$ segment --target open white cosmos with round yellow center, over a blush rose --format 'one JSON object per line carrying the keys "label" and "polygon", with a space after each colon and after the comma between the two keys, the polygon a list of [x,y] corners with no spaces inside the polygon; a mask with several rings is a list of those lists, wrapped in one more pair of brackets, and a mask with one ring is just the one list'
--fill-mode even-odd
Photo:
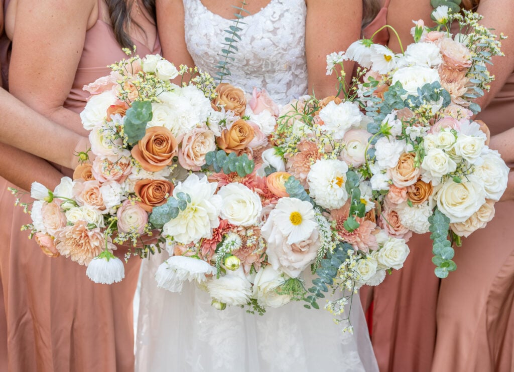
{"label": "open white cosmos with round yellow center, over a blush rose", "polygon": [[[268,222],[269,221],[269,222]],[[304,241],[316,228],[313,205],[296,198],[281,198],[270,212],[268,221],[287,237],[287,244]]]}

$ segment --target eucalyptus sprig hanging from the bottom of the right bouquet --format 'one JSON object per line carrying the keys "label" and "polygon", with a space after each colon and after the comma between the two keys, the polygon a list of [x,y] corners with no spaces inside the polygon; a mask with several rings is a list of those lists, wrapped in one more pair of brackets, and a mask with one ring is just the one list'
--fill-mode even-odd
{"label": "eucalyptus sprig hanging from the bottom of the right bouquet", "polygon": [[435,275],[437,278],[446,278],[450,271],[455,271],[457,265],[452,261],[455,254],[448,240],[448,230],[450,228],[450,219],[443,212],[435,208],[434,214],[428,218],[430,222],[430,239],[432,239],[432,253],[434,257],[432,262],[435,266]]}

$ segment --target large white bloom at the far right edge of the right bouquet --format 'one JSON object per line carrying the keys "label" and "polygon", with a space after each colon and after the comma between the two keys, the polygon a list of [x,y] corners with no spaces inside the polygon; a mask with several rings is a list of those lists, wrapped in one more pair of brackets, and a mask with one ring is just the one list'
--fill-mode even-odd
{"label": "large white bloom at the far right edge of the right bouquet", "polygon": [[483,163],[475,168],[473,174],[484,182],[486,199],[498,201],[507,188],[510,169],[496,150],[486,148],[482,159]]}

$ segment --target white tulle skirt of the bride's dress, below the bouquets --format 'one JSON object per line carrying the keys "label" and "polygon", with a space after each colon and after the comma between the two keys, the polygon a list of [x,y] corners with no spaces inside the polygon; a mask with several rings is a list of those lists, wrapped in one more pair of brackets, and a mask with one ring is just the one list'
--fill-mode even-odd
{"label": "white tulle skirt of the bride's dress, below the bouquets", "polygon": [[182,293],[157,288],[154,275],[164,259],[145,260],[141,269],[136,372],[378,371],[359,296],[353,335],[328,311],[302,302],[263,316],[240,307],[219,311],[194,284],[185,283]]}

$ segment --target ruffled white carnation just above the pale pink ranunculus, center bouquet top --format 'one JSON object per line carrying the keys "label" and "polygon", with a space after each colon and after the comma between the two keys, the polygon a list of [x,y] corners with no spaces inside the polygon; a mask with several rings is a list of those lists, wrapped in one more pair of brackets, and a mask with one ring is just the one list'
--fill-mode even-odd
{"label": "ruffled white carnation just above the pale pink ranunculus, center bouquet top", "polygon": [[332,134],[335,140],[341,140],[348,129],[360,125],[364,115],[353,102],[342,102],[337,105],[331,101],[320,110],[319,116],[325,123],[321,130]]}

